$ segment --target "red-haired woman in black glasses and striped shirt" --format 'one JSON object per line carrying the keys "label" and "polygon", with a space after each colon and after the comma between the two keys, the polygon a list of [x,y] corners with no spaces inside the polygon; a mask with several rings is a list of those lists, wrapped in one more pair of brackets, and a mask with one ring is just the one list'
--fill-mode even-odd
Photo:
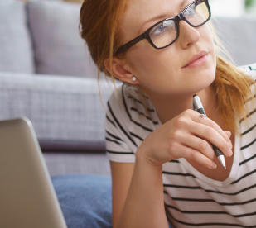
{"label": "red-haired woman in black glasses and striped shirt", "polygon": [[[255,77],[216,54],[209,19],[207,0],[81,7],[95,64],[123,81],[104,123],[114,228],[256,226]],[[208,117],[192,110],[195,93]]]}

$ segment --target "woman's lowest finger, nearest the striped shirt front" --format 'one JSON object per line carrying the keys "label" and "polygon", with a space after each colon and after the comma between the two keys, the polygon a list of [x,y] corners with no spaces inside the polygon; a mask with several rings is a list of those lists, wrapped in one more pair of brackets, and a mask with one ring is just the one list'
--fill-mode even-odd
{"label": "woman's lowest finger, nearest the striped shirt front", "polygon": [[217,165],[209,158],[207,158],[204,154],[201,154],[199,151],[194,150],[185,145],[180,145],[178,151],[181,151],[180,158],[191,159],[196,161],[196,163],[205,166],[208,169],[215,169]]}

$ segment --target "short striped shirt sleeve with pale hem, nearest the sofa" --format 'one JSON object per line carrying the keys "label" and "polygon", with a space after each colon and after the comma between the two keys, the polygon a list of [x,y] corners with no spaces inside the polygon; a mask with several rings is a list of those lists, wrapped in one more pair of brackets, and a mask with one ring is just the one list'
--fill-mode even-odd
{"label": "short striped shirt sleeve with pale hem, nearest the sofa", "polygon": [[109,160],[120,163],[134,163],[133,139],[129,135],[129,118],[123,112],[120,97],[112,93],[107,104],[104,119],[106,153]]}

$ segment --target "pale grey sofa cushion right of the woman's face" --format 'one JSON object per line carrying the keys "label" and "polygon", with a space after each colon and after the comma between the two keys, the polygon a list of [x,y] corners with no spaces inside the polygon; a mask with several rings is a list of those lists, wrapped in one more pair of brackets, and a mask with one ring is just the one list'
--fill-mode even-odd
{"label": "pale grey sofa cushion right of the woman's face", "polygon": [[256,17],[217,17],[215,28],[237,65],[256,62]]}

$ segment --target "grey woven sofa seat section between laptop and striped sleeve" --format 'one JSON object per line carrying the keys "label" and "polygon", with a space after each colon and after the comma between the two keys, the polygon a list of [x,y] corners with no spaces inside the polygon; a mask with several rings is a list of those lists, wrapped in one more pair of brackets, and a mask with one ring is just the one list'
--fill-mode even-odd
{"label": "grey woven sofa seat section between laptop and striped sleeve", "polygon": [[[101,82],[106,103],[112,88]],[[0,72],[0,119],[27,116],[42,150],[104,151],[104,107],[97,80]]]}

